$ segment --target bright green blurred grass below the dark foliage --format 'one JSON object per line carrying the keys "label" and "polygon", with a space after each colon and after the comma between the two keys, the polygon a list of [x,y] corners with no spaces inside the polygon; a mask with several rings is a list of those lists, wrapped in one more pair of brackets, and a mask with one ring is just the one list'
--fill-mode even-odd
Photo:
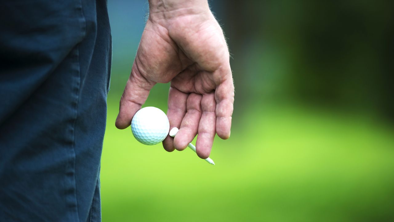
{"label": "bright green blurred grass below the dark foliage", "polygon": [[[189,149],[169,153],[117,130],[113,101],[103,221],[394,219],[394,137],[384,124],[291,105],[249,109],[234,117],[229,140],[216,138],[212,166]],[[166,110],[164,102],[155,106]]]}

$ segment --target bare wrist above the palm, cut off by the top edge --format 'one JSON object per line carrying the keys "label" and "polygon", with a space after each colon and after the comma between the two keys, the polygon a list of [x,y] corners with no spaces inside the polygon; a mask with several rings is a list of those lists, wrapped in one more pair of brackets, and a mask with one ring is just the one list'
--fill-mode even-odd
{"label": "bare wrist above the palm, cut off by the top edge", "polygon": [[170,20],[188,15],[211,14],[207,0],[149,0],[149,19]]}

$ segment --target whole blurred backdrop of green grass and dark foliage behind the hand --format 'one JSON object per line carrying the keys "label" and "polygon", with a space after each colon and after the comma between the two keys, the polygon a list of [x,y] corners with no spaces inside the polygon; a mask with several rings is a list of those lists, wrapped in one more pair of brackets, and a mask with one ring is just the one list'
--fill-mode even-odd
{"label": "whole blurred backdrop of green grass and dark foliage behind the hand", "polygon": [[[108,1],[111,90],[103,221],[393,221],[393,4],[210,1],[236,88],[207,164],[117,130],[147,1]],[[167,110],[169,84],[144,106]]]}

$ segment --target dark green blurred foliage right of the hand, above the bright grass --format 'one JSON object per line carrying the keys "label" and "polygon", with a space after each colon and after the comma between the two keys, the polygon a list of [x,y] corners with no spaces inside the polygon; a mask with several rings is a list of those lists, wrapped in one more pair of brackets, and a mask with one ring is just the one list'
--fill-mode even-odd
{"label": "dark green blurred foliage right of the hand, above the bright grass", "polygon": [[394,117],[393,6],[226,1],[221,22],[240,73],[237,95],[252,103],[250,94],[260,94]]}

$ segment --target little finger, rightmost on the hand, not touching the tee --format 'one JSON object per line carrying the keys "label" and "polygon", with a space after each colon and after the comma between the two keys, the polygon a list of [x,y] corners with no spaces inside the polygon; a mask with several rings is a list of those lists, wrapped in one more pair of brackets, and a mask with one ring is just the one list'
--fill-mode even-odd
{"label": "little finger, rightmost on the hand, not touching the tee", "polygon": [[222,139],[228,139],[231,131],[232,111],[234,109],[234,83],[231,71],[225,81],[215,90],[216,133]]}

